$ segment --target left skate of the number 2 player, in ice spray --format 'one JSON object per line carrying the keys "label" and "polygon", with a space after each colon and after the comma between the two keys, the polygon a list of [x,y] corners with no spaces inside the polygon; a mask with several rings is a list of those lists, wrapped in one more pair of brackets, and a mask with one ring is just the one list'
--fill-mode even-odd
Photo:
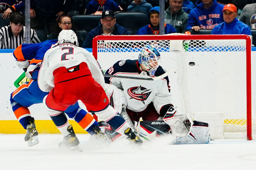
{"label": "left skate of the number 2 player, in ice spray", "polygon": [[82,148],[79,146],[80,142],[76,137],[76,134],[74,133],[72,125],[67,127],[67,131],[69,132],[69,134],[63,137],[63,141],[59,143],[59,147],[69,148],[71,150],[74,149],[80,152],[83,151]]}

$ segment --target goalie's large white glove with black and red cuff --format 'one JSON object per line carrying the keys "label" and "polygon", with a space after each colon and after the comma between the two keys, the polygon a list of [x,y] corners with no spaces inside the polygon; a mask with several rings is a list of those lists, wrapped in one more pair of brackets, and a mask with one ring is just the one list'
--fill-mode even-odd
{"label": "goalie's large white glove with black and red cuff", "polygon": [[189,115],[178,112],[171,104],[163,106],[160,114],[163,114],[164,110],[167,111],[163,117],[163,120],[171,127],[171,133],[176,137],[187,136],[190,133],[193,125]]}

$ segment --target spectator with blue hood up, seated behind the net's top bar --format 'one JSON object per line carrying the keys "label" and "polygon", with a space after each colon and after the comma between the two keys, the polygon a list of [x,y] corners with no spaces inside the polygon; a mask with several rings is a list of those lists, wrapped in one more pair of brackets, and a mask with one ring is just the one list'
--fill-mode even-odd
{"label": "spectator with blue hood up, seated behind the net's top bar", "polygon": [[[158,35],[159,34],[159,24],[160,24],[160,7],[153,7],[148,12],[148,17],[150,24],[140,28],[137,31],[137,35]],[[176,32],[176,29],[170,24],[164,24],[164,34],[170,34]]]}

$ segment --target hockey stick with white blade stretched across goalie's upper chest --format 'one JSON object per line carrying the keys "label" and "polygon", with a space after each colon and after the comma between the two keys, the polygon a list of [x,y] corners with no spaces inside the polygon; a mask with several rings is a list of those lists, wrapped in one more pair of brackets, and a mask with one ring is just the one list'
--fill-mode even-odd
{"label": "hockey stick with white blade stretched across goalie's upper chest", "polygon": [[143,77],[131,77],[131,76],[118,76],[118,75],[105,75],[104,71],[102,70],[102,67],[100,66],[100,63],[97,59],[95,59],[99,65],[100,71],[102,72],[104,77],[115,77],[115,78],[128,78],[128,79],[137,79],[137,80],[160,80],[166,76],[168,76],[171,73],[171,69],[166,71],[164,74],[160,75],[160,76],[154,76],[151,78],[143,78]]}

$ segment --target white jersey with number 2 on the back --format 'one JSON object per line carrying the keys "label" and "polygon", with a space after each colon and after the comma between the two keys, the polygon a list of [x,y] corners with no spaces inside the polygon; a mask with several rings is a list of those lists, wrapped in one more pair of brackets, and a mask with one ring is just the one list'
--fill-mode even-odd
{"label": "white jersey with number 2 on the back", "polygon": [[53,71],[56,68],[64,66],[69,69],[82,62],[88,65],[95,81],[104,87],[104,77],[93,55],[83,48],[70,43],[64,43],[49,49],[45,53],[38,75],[40,89],[44,92],[52,90],[54,87]]}

